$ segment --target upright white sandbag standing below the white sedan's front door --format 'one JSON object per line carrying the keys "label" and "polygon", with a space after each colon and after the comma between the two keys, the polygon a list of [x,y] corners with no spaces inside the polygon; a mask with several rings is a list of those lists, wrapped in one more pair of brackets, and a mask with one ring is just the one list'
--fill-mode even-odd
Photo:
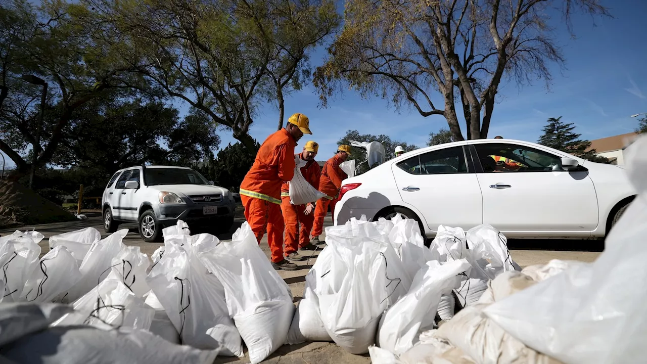
{"label": "upright white sandbag standing below the white sedan's front door", "polygon": [[494,279],[504,271],[521,271],[519,264],[512,260],[507,238],[492,225],[472,227],[467,231],[466,239],[472,259],[477,263],[472,265],[479,269],[482,275]]}

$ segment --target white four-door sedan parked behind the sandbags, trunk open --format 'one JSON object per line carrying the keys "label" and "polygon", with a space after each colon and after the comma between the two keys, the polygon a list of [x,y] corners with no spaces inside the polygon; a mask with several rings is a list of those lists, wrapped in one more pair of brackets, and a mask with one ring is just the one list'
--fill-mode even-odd
{"label": "white four-door sedan parked behind the sandbags, trunk open", "polygon": [[345,179],[334,223],[401,213],[428,237],[439,225],[489,223],[514,238],[602,238],[635,194],[622,166],[480,139],[413,150]]}

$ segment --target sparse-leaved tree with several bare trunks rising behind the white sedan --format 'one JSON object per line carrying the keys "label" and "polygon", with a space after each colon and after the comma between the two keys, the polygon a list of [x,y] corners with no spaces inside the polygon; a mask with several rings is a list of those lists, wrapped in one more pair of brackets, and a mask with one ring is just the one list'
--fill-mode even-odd
{"label": "sparse-leaved tree with several bare trunks rising behind the white sedan", "polygon": [[[486,138],[501,81],[551,82],[564,64],[554,39],[553,8],[604,16],[600,0],[347,0],[344,28],[314,75],[323,106],[344,81],[423,117],[442,115],[457,141]],[[444,105],[432,102],[439,93]],[[461,102],[457,111],[454,101]]]}

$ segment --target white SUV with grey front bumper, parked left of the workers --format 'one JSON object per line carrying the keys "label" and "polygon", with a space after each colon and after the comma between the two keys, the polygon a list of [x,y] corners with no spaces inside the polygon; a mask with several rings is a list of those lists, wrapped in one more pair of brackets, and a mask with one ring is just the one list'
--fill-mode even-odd
{"label": "white SUV with grey front bumper, parked left of the workers", "polygon": [[114,233],[121,222],[137,222],[145,242],[158,242],[162,229],[177,220],[228,231],[234,224],[235,202],[229,190],[191,168],[134,166],[110,179],[102,207],[107,233]]}

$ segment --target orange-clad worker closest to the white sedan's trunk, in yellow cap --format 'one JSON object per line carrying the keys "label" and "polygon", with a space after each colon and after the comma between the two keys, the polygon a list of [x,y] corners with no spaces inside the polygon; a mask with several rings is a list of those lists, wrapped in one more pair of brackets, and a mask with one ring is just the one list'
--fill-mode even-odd
{"label": "orange-clad worker closest to the white sedan's trunk, in yellow cap", "polygon": [[334,216],[334,205],[337,203],[339,189],[342,187],[342,181],[348,177],[339,165],[349,155],[351,155],[351,147],[342,144],[337,148],[336,154],[323,165],[322,176],[319,179],[319,191],[326,194],[326,196],[323,196],[317,201],[314,209],[313,239],[310,241],[311,244],[325,244],[319,240],[319,236],[323,233],[323,218],[328,213],[328,207],[330,207],[330,211]]}

